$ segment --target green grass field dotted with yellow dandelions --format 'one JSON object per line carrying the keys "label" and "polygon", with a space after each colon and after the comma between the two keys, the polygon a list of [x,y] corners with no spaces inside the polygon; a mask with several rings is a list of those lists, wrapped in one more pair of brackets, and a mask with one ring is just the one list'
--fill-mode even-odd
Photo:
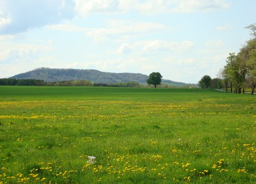
{"label": "green grass field dotted with yellow dandelions", "polygon": [[0,87],[0,183],[255,183],[255,104],[202,89]]}

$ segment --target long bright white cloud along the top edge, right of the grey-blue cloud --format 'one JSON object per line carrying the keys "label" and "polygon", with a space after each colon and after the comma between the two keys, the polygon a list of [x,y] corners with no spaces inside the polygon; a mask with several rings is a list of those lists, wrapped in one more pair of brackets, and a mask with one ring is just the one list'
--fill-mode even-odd
{"label": "long bright white cloud along the top edge, right of the grey-blue cloud", "polygon": [[191,13],[227,9],[225,0],[76,0],[76,10],[81,16],[89,13]]}

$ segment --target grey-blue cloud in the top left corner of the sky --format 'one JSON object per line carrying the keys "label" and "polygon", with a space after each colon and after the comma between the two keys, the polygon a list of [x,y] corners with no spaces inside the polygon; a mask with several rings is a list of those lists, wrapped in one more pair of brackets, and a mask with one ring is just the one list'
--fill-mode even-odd
{"label": "grey-blue cloud in the top left corner of the sky", "polygon": [[1,0],[0,34],[17,34],[74,17],[74,2]]}

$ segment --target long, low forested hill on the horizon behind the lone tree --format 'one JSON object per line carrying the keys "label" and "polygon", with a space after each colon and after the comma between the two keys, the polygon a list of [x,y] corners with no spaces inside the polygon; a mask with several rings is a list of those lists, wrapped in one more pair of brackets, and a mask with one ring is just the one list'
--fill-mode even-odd
{"label": "long, low forested hill on the horizon behind the lone tree", "polygon": [[[106,73],[96,69],[54,69],[38,68],[32,71],[10,77],[14,79],[39,79],[46,82],[63,80],[90,80],[94,83],[139,82],[146,83],[148,76],[135,73]],[[162,80],[169,85],[183,86],[186,83]]]}

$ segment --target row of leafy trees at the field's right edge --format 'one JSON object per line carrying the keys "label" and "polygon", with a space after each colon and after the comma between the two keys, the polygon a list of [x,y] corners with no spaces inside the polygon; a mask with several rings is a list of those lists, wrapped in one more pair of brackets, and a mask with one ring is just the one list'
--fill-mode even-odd
{"label": "row of leafy trees at the field's right edge", "polygon": [[[246,27],[252,31],[253,38],[246,42],[240,52],[229,54],[226,59],[226,65],[221,69],[219,78],[210,79],[210,76],[204,76],[198,85],[201,88],[225,88],[226,92],[244,93],[246,88],[251,88],[251,94],[254,94],[256,85],[256,24]],[[211,86],[210,83],[213,83]]]}

